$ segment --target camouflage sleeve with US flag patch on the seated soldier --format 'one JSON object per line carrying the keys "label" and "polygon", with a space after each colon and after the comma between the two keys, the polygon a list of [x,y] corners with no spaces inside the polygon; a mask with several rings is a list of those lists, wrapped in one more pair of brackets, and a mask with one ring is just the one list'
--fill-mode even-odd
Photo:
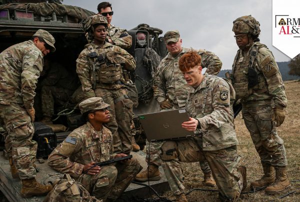
{"label": "camouflage sleeve with US flag patch on the seated soldier", "polygon": [[70,161],[69,157],[80,150],[82,140],[75,133],[70,133],[67,138],[48,156],[48,165],[58,172],[77,177],[82,173],[84,165]]}

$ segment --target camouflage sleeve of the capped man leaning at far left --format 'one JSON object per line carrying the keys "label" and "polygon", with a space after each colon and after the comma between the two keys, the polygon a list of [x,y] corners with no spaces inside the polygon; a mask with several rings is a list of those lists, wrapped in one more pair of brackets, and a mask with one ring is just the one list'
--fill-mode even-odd
{"label": "camouflage sleeve of the capped man leaning at far left", "polygon": [[35,96],[37,79],[42,71],[42,56],[40,51],[29,50],[22,60],[21,93],[24,107],[31,109]]}

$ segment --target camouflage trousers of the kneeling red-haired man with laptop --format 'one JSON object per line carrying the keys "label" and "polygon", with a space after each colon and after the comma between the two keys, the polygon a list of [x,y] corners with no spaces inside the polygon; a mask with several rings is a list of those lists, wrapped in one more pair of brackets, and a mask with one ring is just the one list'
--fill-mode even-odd
{"label": "camouflage trousers of the kneeling red-haired man with laptop", "polygon": [[237,172],[239,156],[236,146],[216,151],[203,151],[193,138],[166,141],[161,146],[162,168],[174,195],[184,193],[180,162],[197,162],[206,159],[219,194],[229,198],[239,197],[242,177]]}

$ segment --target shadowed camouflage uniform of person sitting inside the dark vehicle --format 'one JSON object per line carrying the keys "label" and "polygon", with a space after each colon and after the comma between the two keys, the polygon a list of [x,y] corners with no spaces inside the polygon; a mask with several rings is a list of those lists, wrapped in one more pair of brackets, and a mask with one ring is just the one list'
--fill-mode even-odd
{"label": "shadowed camouflage uniform of person sitting inside the dark vehicle", "polygon": [[46,77],[41,81],[41,111],[43,116],[52,117],[54,103],[63,106],[76,90],[77,78],[62,65],[52,63]]}

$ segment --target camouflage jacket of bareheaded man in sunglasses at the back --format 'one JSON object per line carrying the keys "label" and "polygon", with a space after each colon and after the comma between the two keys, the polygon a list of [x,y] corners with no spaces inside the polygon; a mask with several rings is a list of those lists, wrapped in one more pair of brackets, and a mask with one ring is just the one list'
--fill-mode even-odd
{"label": "camouflage jacket of bareheaded man in sunglasses at the back", "polygon": [[128,49],[132,44],[132,37],[128,35],[126,30],[111,24],[107,29],[107,38],[112,40],[113,45],[121,47],[122,49]]}

